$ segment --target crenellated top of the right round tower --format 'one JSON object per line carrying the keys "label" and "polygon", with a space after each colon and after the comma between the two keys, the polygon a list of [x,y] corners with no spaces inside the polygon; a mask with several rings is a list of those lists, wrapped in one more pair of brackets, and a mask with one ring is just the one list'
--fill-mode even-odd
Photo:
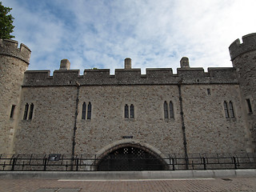
{"label": "crenellated top of the right round tower", "polygon": [[247,34],[242,37],[242,43],[239,39],[235,40],[229,47],[231,61],[251,50],[256,50],[256,33]]}

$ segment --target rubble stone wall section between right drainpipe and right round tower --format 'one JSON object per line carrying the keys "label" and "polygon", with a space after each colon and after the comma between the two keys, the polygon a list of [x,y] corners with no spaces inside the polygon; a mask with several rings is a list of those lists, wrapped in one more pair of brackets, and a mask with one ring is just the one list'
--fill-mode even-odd
{"label": "rubble stone wall section between right drainpipe and right round tower", "polygon": [[[182,101],[188,153],[239,153],[252,148],[246,143],[238,85],[182,86]],[[225,117],[224,101],[233,103],[234,118]]]}

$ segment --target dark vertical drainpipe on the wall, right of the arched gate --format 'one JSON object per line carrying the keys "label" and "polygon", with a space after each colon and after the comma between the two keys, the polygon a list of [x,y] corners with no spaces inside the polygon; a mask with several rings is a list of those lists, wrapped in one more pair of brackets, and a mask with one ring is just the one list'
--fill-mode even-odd
{"label": "dark vertical drainpipe on the wall, right of the arched gate", "polygon": [[184,122],[184,113],[183,113],[183,104],[182,104],[182,80],[178,82],[178,95],[179,95],[179,104],[180,104],[181,117],[182,117],[182,134],[183,134],[183,146],[184,146],[184,152],[185,152],[186,170],[188,170],[189,158],[187,155],[187,148],[186,148],[186,127]]}

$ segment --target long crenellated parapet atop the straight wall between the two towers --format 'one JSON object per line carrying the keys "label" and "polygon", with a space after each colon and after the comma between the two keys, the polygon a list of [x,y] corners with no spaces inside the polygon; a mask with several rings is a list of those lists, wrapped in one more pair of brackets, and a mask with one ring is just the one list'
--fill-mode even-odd
{"label": "long crenellated parapet atop the straight wall between the two towers", "polygon": [[233,67],[208,68],[178,68],[178,73],[173,74],[170,68],[146,69],[146,74],[141,74],[140,69],[118,69],[115,74],[110,70],[84,70],[80,75],[79,70],[27,70],[22,86],[107,86],[107,85],[168,85],[178,84],[237,84],[236,71]]}

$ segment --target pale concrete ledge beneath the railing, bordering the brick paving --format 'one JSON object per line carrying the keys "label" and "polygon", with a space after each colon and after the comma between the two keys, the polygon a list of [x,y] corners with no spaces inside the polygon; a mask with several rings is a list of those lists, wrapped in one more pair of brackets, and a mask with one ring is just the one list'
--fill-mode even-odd
{"label": "pale concrete ledge beneath the railing, bordering the brick paving", "polygon": [[166,171],[0,171],[0,178],[82,178],[86,180],[166,178],[256,178],[251,170],[166,170]]}

